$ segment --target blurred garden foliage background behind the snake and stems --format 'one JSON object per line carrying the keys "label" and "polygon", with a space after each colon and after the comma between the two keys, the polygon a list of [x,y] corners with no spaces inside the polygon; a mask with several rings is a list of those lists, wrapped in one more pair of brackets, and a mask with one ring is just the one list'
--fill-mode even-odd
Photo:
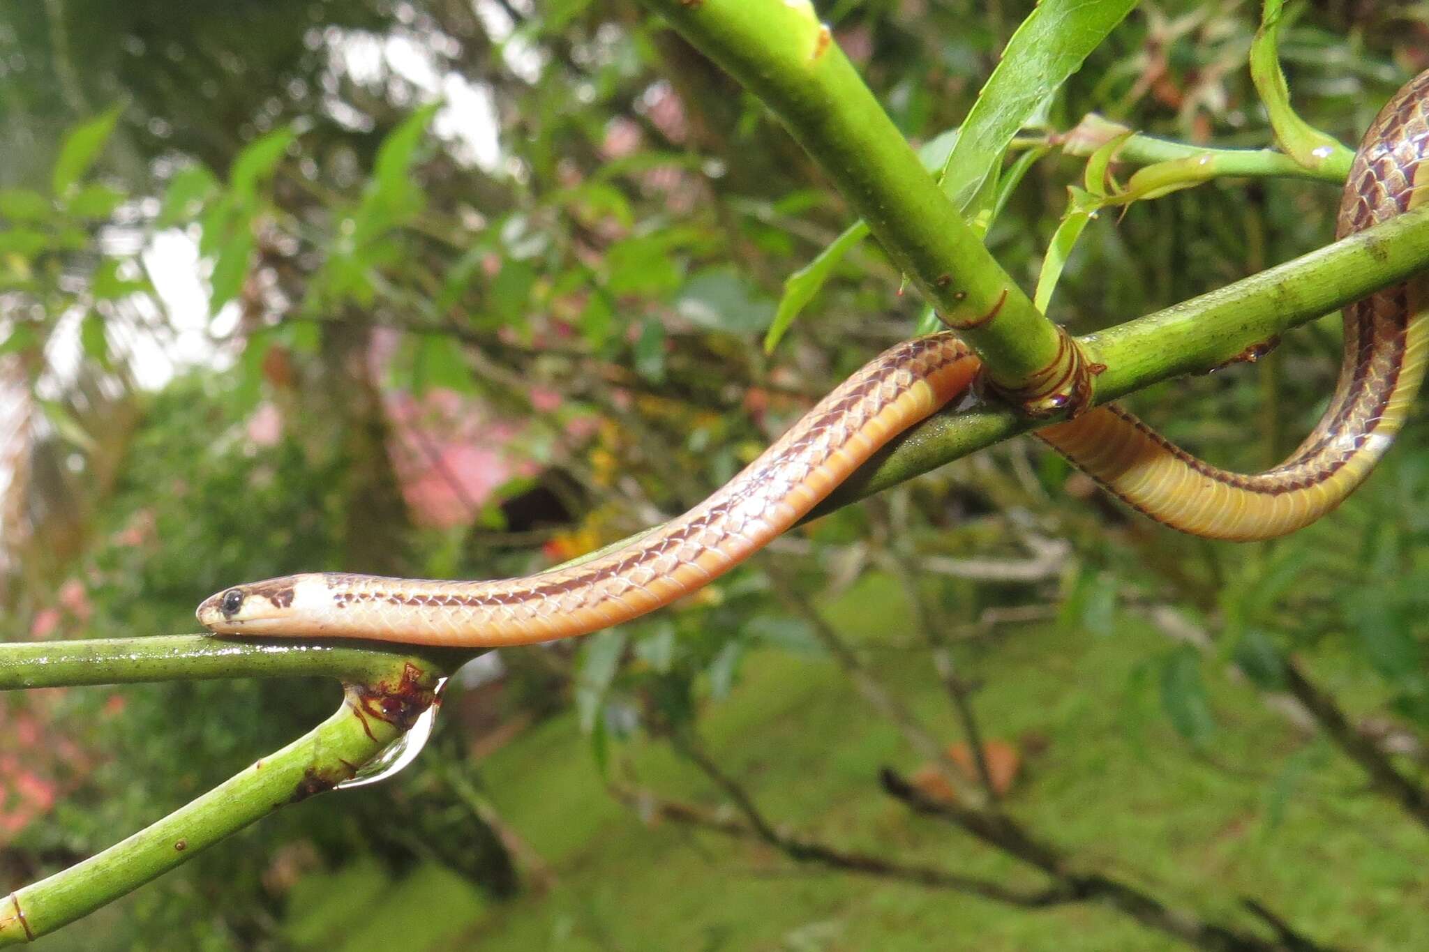
{"label": "blurred garden foliage background behind the snake and stems", "polygon": [[[916,143],[957,124],[1030,10],[817,7]],[[1097,111],[1269,144],[1258,19],[1142,4],[1029,138]],[[1429,66],[1426,19],[1293,10],[1300,113],[1358,141]],[[4,639],[191,631],[207,594],[292,571],[539,571],[696,504],[917,313],[870,243],[765,355],[782,281],[850,216],[633,0],[10,4],[0,110]],[[1039,160],[987,236],[1029,288],[1083,163]],[[1252,274],[1329,241],[1336,200],[1233,180],[1103,214],[1052,314],[1086,333]],[[1325,405],[1338,334],[1329,315],[1132,404],[1269,465]],[[669,611],[477,662],[402,776],[283,811],[41,945],[336,948],[374,925],[432,949],[1187,941],[1106,896],[1019,908],[719,829],[765,816],[1046,882],[886,796],[883,766],[999,798],[1077,868],[1206,921],[1423,945],[1426,441],[1416,414],[1342,511],[1256,545],[1135,517],[1033,441],[996,447]],[[276,681],[0,698],[0,891],[336,702]],[[929,772],[930,744],[965,774]]]}

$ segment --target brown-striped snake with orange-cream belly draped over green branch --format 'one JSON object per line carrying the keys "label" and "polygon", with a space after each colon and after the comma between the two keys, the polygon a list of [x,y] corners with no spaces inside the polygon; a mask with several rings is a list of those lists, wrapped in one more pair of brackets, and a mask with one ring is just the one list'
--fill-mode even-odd
{"label": "brown-striped snake with orange-cream belly draped over green branch", "polygon": [[[1419,187],[1429,184],[1429,171],[1422,171],[1429,170],[1426,113],[1429,70],[1399,90],[1366,130],[1336,237],[1416,204]],[[1343,363],[1330,402],[1299,448],[1265,472],[1203,462],[1115,404],[1036,435],[1127,505],[1172,528],[1242,541],[1292,532],[1363,482],[1403,424],[1429,354],[1429,321],[1420,320],[1426,300],[1425,280],[1412,278],[1345,308]],[[617,625],[749,558],[895,435],[969,397],[980,370],[952,331],[903,341],[829,393],[693,510],[580,564],[492,581],[306,572],[220,591],[197,617],[224,635],[467,648]]]}

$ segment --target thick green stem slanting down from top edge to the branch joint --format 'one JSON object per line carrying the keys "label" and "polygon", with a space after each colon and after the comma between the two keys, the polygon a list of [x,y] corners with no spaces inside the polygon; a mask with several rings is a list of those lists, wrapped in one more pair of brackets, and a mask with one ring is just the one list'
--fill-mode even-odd
{"label": "thick green stem slanting down from top edge to the branch joint", "polygon": [[1053,324],[963,221],[807,0],[642,3],[785,123],[926,300],[966,325],[997,384],[1019,388],[1052,364]]}

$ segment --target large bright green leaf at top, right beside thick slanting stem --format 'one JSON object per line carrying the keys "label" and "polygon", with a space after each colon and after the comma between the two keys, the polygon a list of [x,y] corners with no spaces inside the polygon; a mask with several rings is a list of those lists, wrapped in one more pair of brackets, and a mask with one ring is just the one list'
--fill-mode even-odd
{"label": "large bright green leaf at top, right beside thick slanting stem", "polygon": [[1022,21],[943,166],[943,193],[965,218],[992,208],[995,194],[983,186],[995,178],[1007,143],[1135,6],[1136,0],[1042,0]]}

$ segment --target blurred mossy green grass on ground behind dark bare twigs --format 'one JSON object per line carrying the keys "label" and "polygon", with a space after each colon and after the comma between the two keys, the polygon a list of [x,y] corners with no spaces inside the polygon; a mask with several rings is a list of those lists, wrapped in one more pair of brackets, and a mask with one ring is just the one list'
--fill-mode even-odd
{"label": "blurred mossy green grass on ground behind dark bare twigs", "polygon": [[[890,579],[870,575],[829,607],[865,647],[906,631]],[[1429,838],[1365,789],[1322,742],[1295,732],[1249,687],[1212,678],[1218,732],[1193,749],[1157,712],[1145,659],[1172,645],[1123,617],[1096,637],[1010,629],[973,659],[989,736],[1035,732],[1012,811],[1089,868],[1169,905],[1255,928],[1253,896],[1310,938],[1356,949],[1429,948]],[[869,652],[885,682],[949,739],[926,658]],[[1335,668],[1318,675],[1329,687]],[[825,658],[752,654],[733,695],[702,719],[709,748],[776,822],[829,844],[939,864],[1025,886],[1037,875],[946,824],[883,796],[883,765],[916,758]],[[629,751],[642,782],[719,802],[667,748]],[[573,716],[547,721],[483,764],[504,815],[556,885],[494,903],[434,866],[389,881],[377,868],[310,875],[289,898],[302,948],[369,949],[987,949],[1183,948],[1100,905],[1027,912],[947,891],[797,868],[783,856],[669,824],[643,825],[604,791]],[[400,781],[397,781],[400,782]],[[340,799],[330,801],[340,808]],[[220,846],[223,848],[223,846]]]}

